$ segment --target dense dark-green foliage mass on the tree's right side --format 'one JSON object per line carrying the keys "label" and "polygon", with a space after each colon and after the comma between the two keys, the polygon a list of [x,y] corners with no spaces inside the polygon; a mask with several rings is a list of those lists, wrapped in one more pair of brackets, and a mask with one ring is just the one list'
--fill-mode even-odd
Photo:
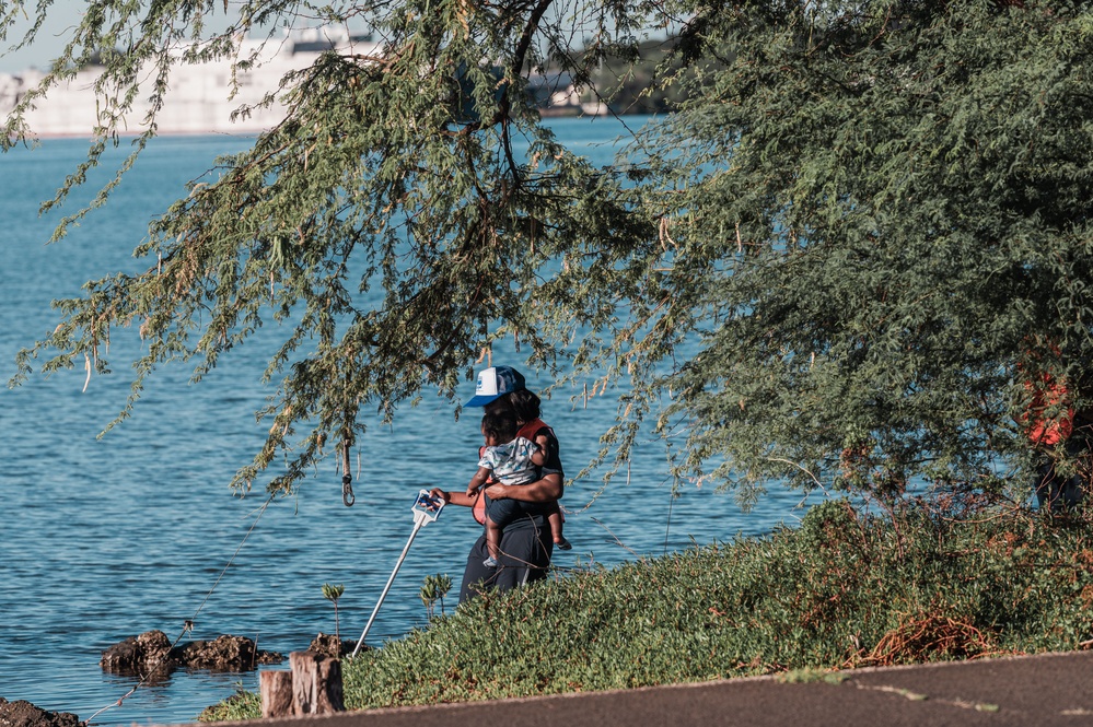
{"label": "dense dark-green foliage mass on the tree's right side", "polygon": [[696,4],[681,52],[735,55],[644,144],[671,249],[648,326],[705,342],[647,395],[690,427],[681,474],[999,492],[1032,356],[1088,407],[1091,17]]}

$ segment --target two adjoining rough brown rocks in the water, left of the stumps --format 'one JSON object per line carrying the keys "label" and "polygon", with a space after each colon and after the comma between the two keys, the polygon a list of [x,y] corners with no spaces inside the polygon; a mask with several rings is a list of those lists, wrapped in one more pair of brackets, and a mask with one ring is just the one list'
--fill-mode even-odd
{"label": "two adjoining rough brown rocks in the water, left of the stumps", "polygon": [[[276,652],[260,652],[246,636],[218,636],[171,646],[162,631],[148,631],[114,644],[98,665],[112,673],[142,675],[174,667],[211,671],[247,671],[259,664],[279,664],[284,658]],[[5,727],[0,725],[0,727]]]}

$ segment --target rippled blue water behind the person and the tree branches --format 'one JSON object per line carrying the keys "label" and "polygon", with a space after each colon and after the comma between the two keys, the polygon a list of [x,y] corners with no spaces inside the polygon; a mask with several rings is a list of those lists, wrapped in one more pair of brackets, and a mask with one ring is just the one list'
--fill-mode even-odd
{"label": "rippled blue water behind the person and the tree branches", "polygon": [[[584,145],[601,161],[613,153],[609,142],[625,132],[608,119],[555,126],[559,138]],[[223,136],[158,140],[105,208],[50,246],[45,242],[59,216],[39,219],[38,204],[83,157],[86,143],[47,140],[38,149],[0,156],[3,378],[14,371],[15,352],[56,325],[51,300],[78,295],[91,278],[139,269],[142,263],[131,250],[152,216],[184,195],[183,185],[209,168],[216,155],[248,143]],[[94,177],[105,178],[105,172]],[[75,209],[66,204],[65,212]],[[409,536],[417,489],[466,486],[480,438],[477,418],[456,422],[447,402],[427,397],[362,442],[354,507],[341,504],[340,472],[332,459],[298,495],[261,511],[263,493],[240,499],[226,485],[263,441],[264,429],[254,419],[269,394],[258,380],[263,347],[223,356],[195,386],[185,365],[163,368],[149,382],[135,415],[96,438],[125,403],[126,355],[139,347],[133,330],[114,331],[113,338],[115,374],[93,377],[85,392],[82,365],[0,392],[5,511],[0,517],[0,696],[88,719],[137,683],[104,673],[101,652],[151,629],[174,640],[187,619],[196,624],[187,638],[228,633],[257,638],[259,648],[286,655],[303,649],[319,631],[334,630],[324,583],[345,584],[342,636],[359,636]],[[528,374],[533,388],[548,383]],[[468,383],[465,398],[472,389]],[[593,456],[615,403],[607,396],[588,408],[583,401],[573,406],[569,394],[575,391],[556,394],[544,412],[559,433],[572,476]],[[443,446],[438,434],[444,435]],[[410,448],[423,455],[393,481],[385,455]],[[595,479],[568,489],[567,535],[574,549],[559,553],[558,564],[617,564],[694,542],[765,532],[801,514],[794,509],[800,494],[784,490],[772,490],[743,514],[730,496],[709,490],[688,489],[673,501],[666,481],[662,450],[648,444],[631,461],[628,481],[620,478],[598,499],[593,501],[600,490]],[[419,533],[370,644],[426,624],[418,596],[422,578],[446,573],[457,591],[476,535],[466,511],[457,508]],[[257,676],[175,671],[94,722],[189,722],[240,684],[256,689]]]}

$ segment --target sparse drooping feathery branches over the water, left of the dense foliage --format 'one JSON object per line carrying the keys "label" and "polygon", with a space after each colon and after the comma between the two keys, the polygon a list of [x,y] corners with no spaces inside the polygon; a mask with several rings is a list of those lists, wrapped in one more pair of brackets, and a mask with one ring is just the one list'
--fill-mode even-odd
{"label": "sparse drooping feathery branches over the water, left of the dense foliage", "polygon": [[[153,222],[137,249],[149,259],[142,272],[93,281],[85,297],[59,302],[63,323],[20,354],[13,383],[47,352],[47,374],[84,359],[105,373],[107,341],[131,326],[144,353],[120,420],[159,365],[195,362],[200,379],[259,327],[281,324],[282,345],[266,371],[281,377],[280,388],[259,412],[269,437],[233,484],[248,489],[282,453],[287,471],[268,489],[289,492],[324,456],[324,442],[351,442],[363,431],[362,409],[389,418],[427,386],[454,398],[498,337],[519,336],[533,365],[553,366],[580,326],[613,316],[614,301],[582,298],[581,309],[551,312],[535,291],[572,290],[588,267],[609,269],[625,256],[621,243],[648,232],[648,222],[630,214],[621,174],[557,144],[523,93],[532,67],[548,58],[574,62],[559,45],[568,34],[558,32],[573,16],[547,14],[550,4],[438,0],[324,10],[368,23],[384,39],[381,56],[328,52],[288,74],[272,92],[288,104],[284,120],[252,150],[220,160],[214,175]],[[106,60],[100,87],[116,106],[100,114],[89,165],[116,141],[138,69],[161,71],[156,93],[165,93],[167,67],[178,61],[173,48],[187,45],[184,30],[196,38],[217,8],[204,0],[88,3],[40,92],[68,78],[70,66],[85,66],[84,49],[127,49]],[[231,57],[244,32],[291,24],[305,9],[287,0],[245,3],[228,32],[191,39],[182,62]],[[623,2],[577,3],[573,11],[601,43],[648,14],[643,4]],[[461,89],[474,120],[457,103]],[[9,118],[5,143],[28,133],[27,107]],[[144,128],[138,149],[154,134],[154,118]],[[513,151],[518,142],[526,153]],[[563,266],[569,272],[559,272],[573,241],[586,237],[620,245],[588,259],[577,254]]]}

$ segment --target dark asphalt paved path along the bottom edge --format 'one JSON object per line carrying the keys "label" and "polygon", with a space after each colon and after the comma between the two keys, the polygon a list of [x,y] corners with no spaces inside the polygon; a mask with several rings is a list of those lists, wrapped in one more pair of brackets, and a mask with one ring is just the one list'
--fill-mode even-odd
{"label": "dark asphalt paved path along the bottom edge", "polygon": [[[1093,725],[1093,653],[270,719],[290,727],[714,727]],[[252,727],[255,723],[251,724]]]}

